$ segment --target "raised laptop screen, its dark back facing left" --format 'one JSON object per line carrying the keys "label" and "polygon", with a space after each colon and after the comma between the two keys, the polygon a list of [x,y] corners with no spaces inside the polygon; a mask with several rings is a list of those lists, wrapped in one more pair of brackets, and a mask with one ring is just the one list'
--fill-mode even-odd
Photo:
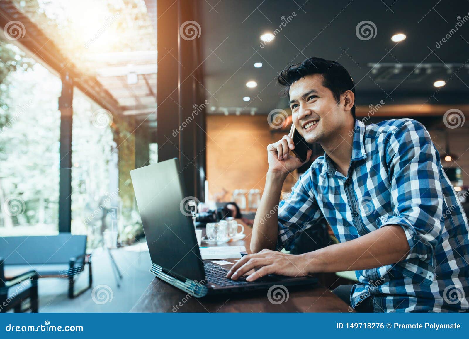
{"label": "raised laptop screen, its dark back facing left", "polygon": [[179,160],[137,168],[130,175],[151,261],[177,278],[204,279],[192,219],[180,208],[187,196]]}

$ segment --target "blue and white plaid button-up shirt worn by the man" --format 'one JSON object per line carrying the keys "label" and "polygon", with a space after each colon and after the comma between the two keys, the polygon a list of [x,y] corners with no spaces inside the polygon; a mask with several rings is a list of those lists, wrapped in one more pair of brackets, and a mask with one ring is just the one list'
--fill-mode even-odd
{"label": "blue and white plaid button-up shirt worn by the man", "polygon": [[323,216],[340,242],[399,225],[408,256],[356,271],[351,306],[372,297],[376,312],[468,310],[468,219],[428,131],[411,119],[357,120],[352,147],[347,177],[325,154],[280,202],[278,247],[291,250],[295,232]]}

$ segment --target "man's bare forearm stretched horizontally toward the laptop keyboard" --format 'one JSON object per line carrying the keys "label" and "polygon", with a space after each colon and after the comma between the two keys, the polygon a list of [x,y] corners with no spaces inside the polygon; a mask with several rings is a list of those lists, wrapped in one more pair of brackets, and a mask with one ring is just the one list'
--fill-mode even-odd
{"label": "man's bare forearm stretched horizontally toward the laptop keyboard", "polygon": [[309,273],[366,270],[402,261],[410,248],[401,226],[382,227],[360,238],[305,253]]}

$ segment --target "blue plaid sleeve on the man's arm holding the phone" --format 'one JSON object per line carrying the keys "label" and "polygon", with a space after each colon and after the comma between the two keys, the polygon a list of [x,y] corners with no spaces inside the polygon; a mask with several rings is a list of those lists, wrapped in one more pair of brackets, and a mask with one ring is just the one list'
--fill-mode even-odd
{"label": "blue plaid sleeve on the man's arm holding the phone", "polygon": [[293,241],[295,233],[309,227],[322,217],[318,203],[310,193],[310,185],[309,169],[300,176],[287,199],[280,201],[277,249],[292,250],[295,246]]}

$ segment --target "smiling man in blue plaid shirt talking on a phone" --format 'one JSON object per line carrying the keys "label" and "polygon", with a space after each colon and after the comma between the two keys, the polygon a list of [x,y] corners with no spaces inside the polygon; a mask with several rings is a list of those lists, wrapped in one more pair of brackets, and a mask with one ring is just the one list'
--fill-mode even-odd
{"label": "smiling man in blue plaid shirt talking on a phone", "polygon": [[[255,254],[227,277],[355,270],[359,283],[334,292],[358,311],[468,310],[468,220],[424,126],[411,119],[368,126],[356,120],[353,80],[337,62],[309,58],[283,70],[278,81],[296,130],[325,155],[272,213],[288,173],[303,163],[289,154],[295,148],[289,136],[267,147]],[[295,232],[323,216],[340,243],[302,255],[275,250],[291,250]]]}

